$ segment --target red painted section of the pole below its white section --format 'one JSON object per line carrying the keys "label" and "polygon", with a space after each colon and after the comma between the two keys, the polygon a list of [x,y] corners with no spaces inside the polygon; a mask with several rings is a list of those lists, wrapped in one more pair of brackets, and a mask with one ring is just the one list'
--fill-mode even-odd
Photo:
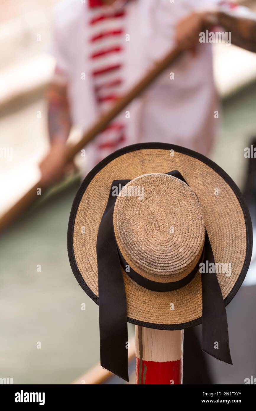
{"label": "red painted section of the pole below its white section", "polygon": [[140,359],[136,358],[136,384],[177,385],[181,383],[181,360],[164,363],[142,360],[141,371],[139,365]]}

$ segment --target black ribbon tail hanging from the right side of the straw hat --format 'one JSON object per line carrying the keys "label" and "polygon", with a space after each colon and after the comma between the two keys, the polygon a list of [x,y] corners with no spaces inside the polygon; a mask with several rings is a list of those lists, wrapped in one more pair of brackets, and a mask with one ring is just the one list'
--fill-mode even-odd
{"label": "black ribbon tail hanging from the right side of the straw hat", "polygon": [[205,231],[204,263],[212,264],[213,272],[202,273],[202,350],[224,363],[231,364],[228,342],[228,322],[225,303],[215,272],[215,262],[210,240]]}

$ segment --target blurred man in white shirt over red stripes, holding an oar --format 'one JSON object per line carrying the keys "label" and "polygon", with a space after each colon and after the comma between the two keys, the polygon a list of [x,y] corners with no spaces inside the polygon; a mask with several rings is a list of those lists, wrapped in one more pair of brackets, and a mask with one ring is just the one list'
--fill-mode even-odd
{"label": "blurred man in white shirt over red stripes, holding an oar", "polygon": [[51,48],[56,68],[48,90],[51,148],[40,165],[42,182],[62,175],[71,126],[88,129],[175,44],[189,53],[86,146],[83,175],[114,150],[137,142],[176,143],[208,155],[219,105],[211,44],[199,43],[199,32],[219,24],[232,32],[233,44],[255,51],[253,18],[244,7],[215,0],[57,5]]}

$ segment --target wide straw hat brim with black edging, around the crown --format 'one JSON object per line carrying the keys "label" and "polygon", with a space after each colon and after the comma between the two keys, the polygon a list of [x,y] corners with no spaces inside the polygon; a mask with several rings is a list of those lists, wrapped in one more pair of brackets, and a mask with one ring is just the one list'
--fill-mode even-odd
{"label": "wide straw hat brim with black edging, around the crown", "polygon": [[[71,269],[83,290],[97,304],[97,232],[112,181],[173,170],[180,171],[198,196],[215,262],[231,264],[231,274],[217,274],[225,305],[240,288],[251,260],[252,226],[247,204],[237,185],[217,164],[192,150],[166,143],[134,144],[115,151],[90,171],[71,208],[67,235]],[[185,287],[169,292],[147,290],[125,271],[123,277],[130,323],[178,330],[202,322],[199,272]]]}

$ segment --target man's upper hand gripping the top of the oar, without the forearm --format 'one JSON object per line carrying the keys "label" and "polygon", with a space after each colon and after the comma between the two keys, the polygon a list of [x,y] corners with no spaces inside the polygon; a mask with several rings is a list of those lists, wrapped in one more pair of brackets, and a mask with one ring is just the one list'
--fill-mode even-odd
{"label": "man's upper hand gripping the top of the oar, without the forearm", "polygon": [[179,21],[176,26],[176,45],[182,50],[196,52],[199,33],[205,30],[205,12],[194,12]]}

